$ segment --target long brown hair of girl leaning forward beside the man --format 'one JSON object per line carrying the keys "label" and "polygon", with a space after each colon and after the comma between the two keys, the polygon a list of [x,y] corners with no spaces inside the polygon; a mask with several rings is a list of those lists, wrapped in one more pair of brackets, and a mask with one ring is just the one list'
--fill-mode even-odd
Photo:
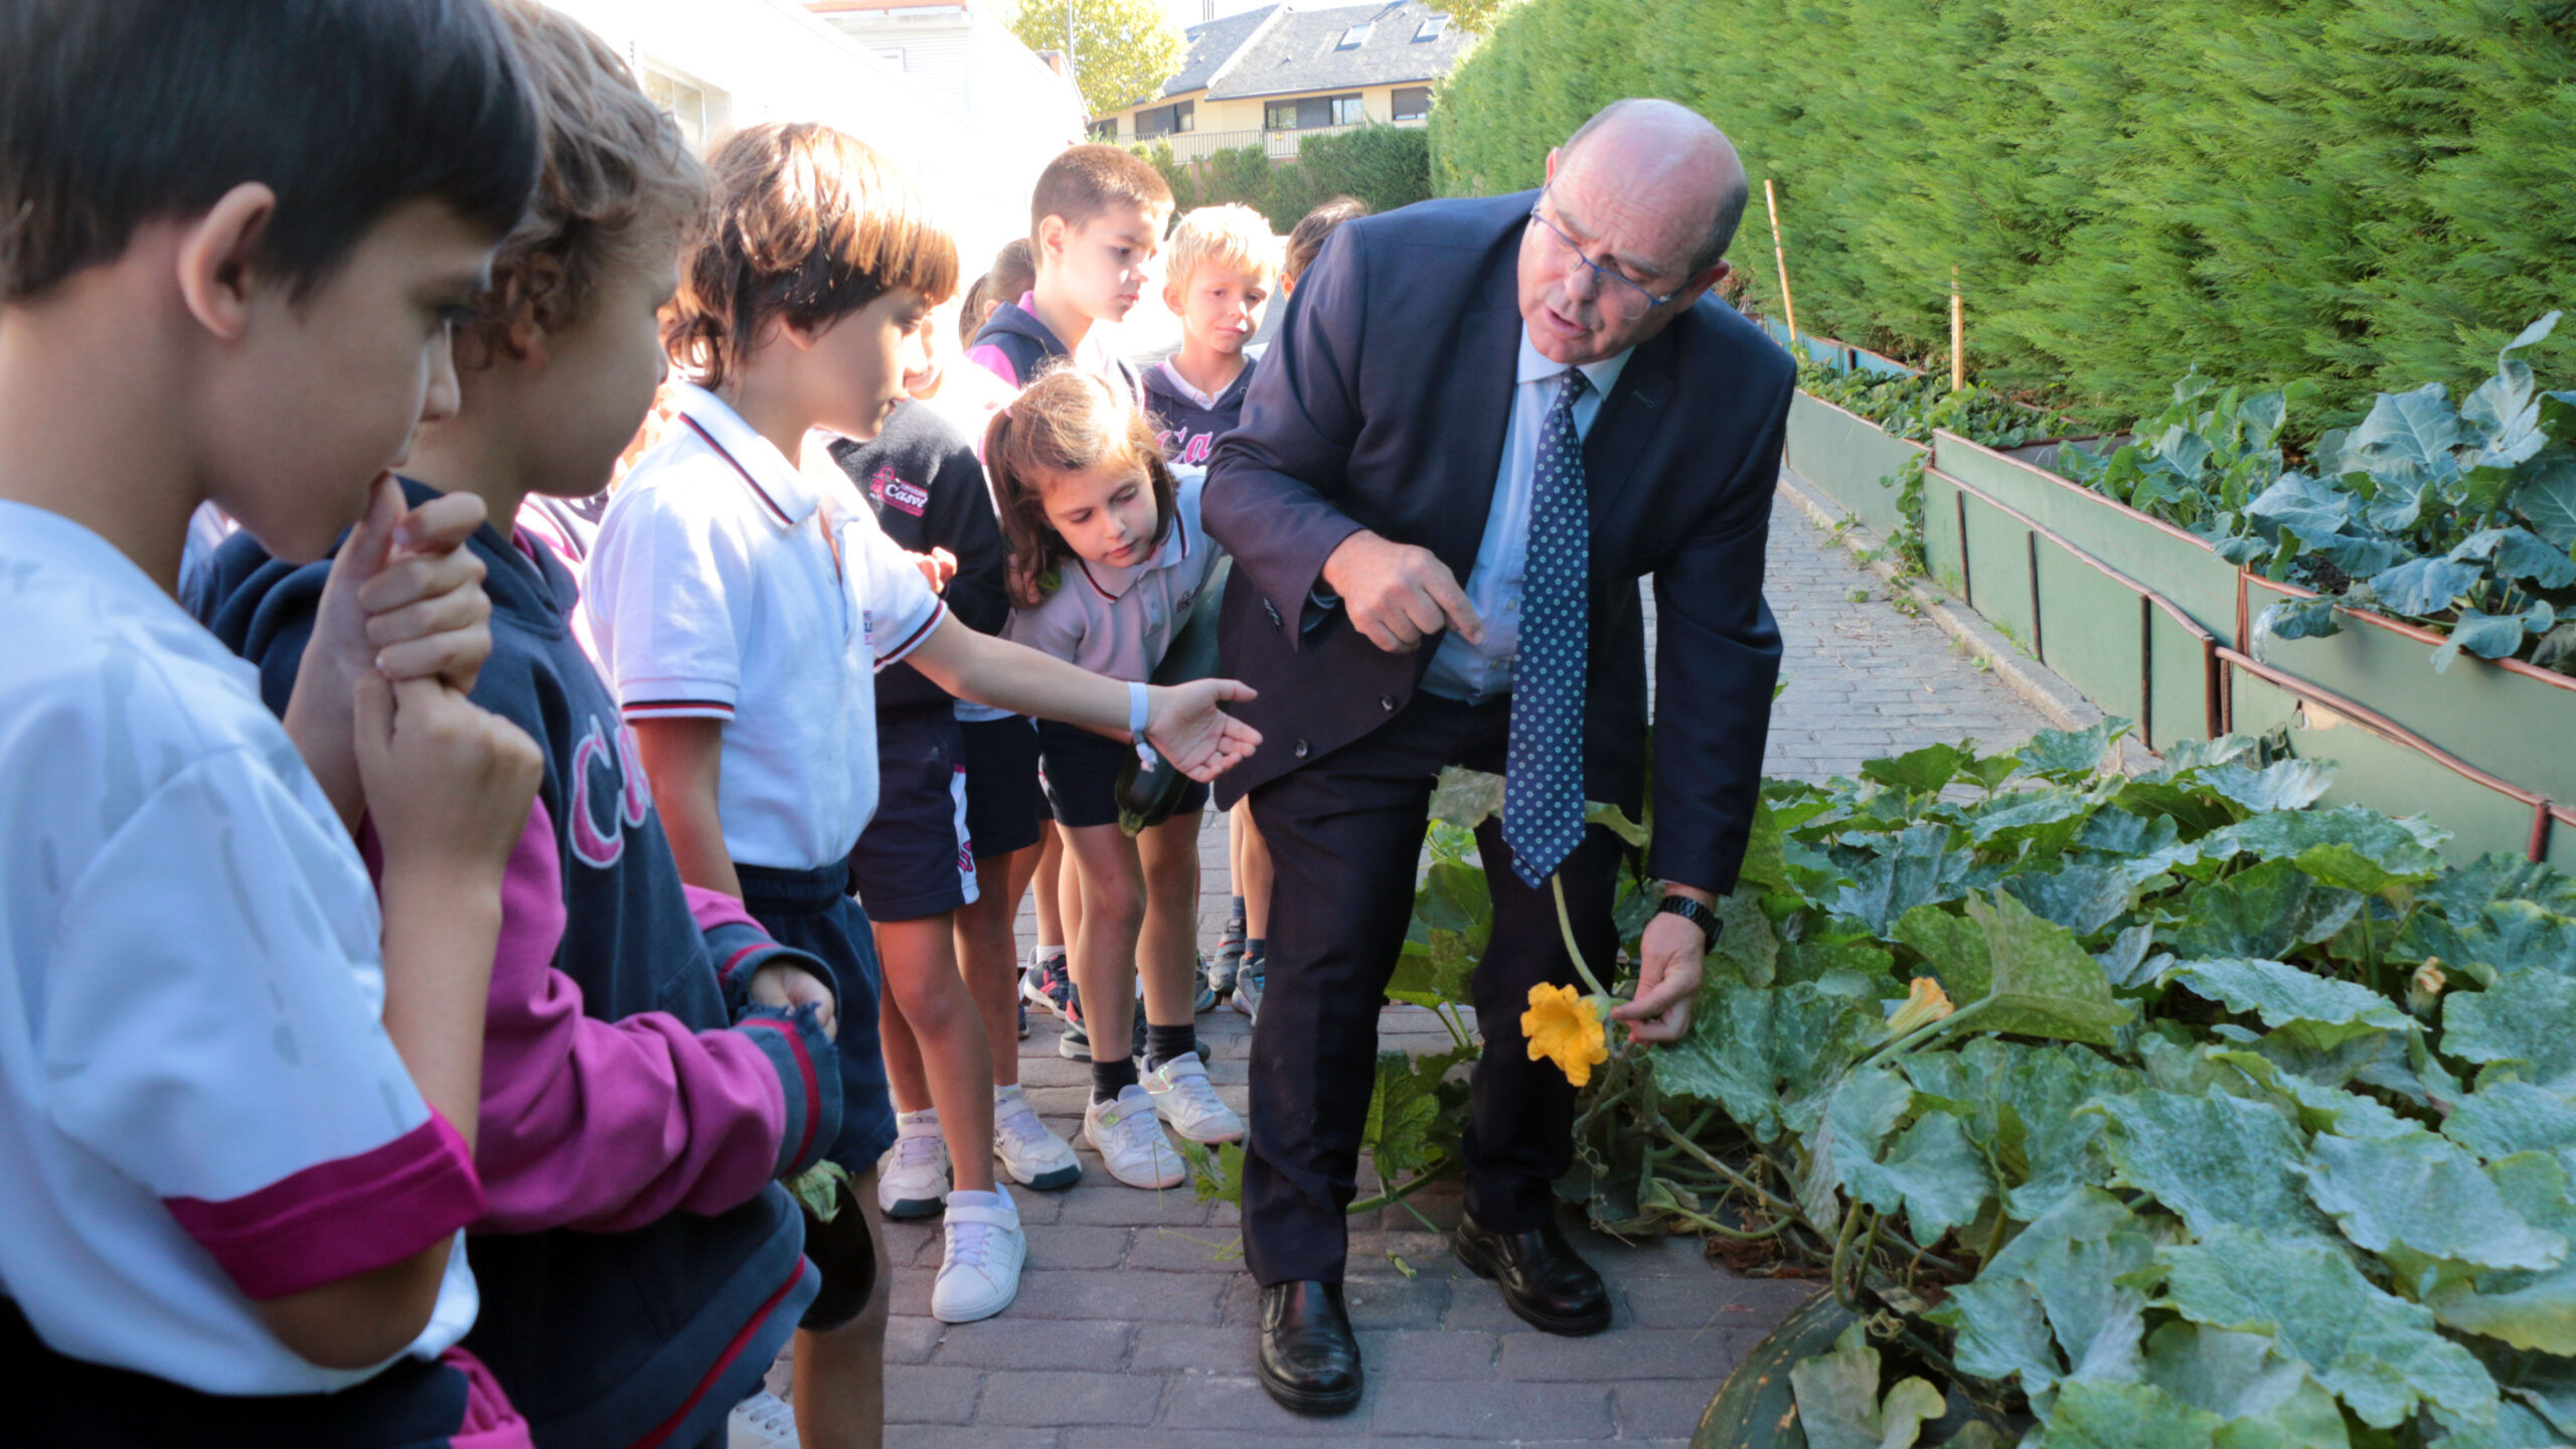
{"label": "long brown hair of girl leaning forward beside the man", "polygon": [[1154,541],[1172,526],[1172,467],[1154,423],[1115,387],[1069,364],[1038,374],[984,428],[984,469],[1010,547],[1010,601],[1036,608],[1074,549],[1046,521],[1046,480],[1092,467],[1133,467],[1154,485]]}

